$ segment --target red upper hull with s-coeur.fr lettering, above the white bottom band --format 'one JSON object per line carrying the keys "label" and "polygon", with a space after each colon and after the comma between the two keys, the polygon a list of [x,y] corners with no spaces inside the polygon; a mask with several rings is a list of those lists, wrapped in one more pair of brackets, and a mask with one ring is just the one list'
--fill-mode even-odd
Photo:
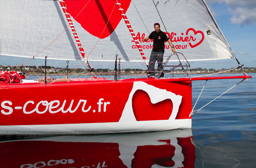
{"label": "red upper hull with s-coeur.fr lettering, above the white bottom band", "polygon": [[0,89],[1,126],[191,119],[190,81],[81,80]]}

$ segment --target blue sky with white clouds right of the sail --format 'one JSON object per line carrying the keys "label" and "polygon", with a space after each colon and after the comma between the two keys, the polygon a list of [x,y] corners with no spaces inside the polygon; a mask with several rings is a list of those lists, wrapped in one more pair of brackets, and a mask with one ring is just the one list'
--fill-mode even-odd
{"label": "blue sky with white clouds right of the sail", "polygon": [[[238,61],[244,67],[256,67],[256,0],[205,1]],[[227,65],[226,60],[216,62],[219,68]],[[192,67],[207,68],[210,64],[194,63]]]}

